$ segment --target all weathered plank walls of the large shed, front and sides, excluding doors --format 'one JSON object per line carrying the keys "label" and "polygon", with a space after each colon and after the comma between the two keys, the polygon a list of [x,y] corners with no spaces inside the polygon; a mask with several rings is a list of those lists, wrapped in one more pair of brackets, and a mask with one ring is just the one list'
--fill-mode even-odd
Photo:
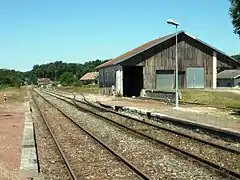
{"label": "all weathered plank walls of the large shed, front and sides, excluding doors", "polygon": [[[178,68],[181,78],[180,88],[186,88],[186,70],[188,67],[204,67],[205,87],[212,87],[213,78],[213,51],[204,45],[181,33],[178,36]],[[120,63],[121,66],[143,66],[144,89],[156,88],[156,70],[175,70],[175,37],[160,45],[154,46],[144,52]],[[217,53],[217,69],[237,68],[238,63],[226,55]],[[118,66],[102,68],[99,70],[100,87],[111,87],[116,84],[116,71]],[[239,67],[240,68],[240,67]]]}

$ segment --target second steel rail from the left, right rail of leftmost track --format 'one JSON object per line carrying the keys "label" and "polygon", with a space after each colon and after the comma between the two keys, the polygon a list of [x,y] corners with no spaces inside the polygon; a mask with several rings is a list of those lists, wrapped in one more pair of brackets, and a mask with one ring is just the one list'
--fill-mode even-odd
{"label": "second steel rail from the left, right rail of leftmost track", "polygon": [[66,113],[64,113],[61,109],[56,107],[54,104],[52,104],[46,97],[35,91],[40,97],[42,97],[48,104],[53,106],[55,109],[57,109],[64,117],[69,119],[74,125],[76,125],[78,128],[80,128],[82,131],[84,131],[86,134],[88,134],[93,140],[95,140],[97,143],[99,143],[103,148],[107,149],[111,154],[113,154],[117,159],[120,159],[131,171],[135,172],[141,179],[149,180],[150,177],[145,174],[143,171],[141,171],[137,166],[132,164],[130,161],[128,161],[126,158],[124,158],[122,155],[114,151],[111,147],[109,147],[104,141],[100,140],[97,136],[95,136],[90,131],[84,129],[82,126],[80,126],[78,123],[75,122],[74,119],[72,119],[70,116],[68,116]]}

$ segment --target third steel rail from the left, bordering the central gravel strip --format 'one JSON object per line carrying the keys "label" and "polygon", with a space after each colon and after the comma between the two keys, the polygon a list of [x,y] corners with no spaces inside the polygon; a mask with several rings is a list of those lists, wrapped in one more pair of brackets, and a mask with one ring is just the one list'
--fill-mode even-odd
{"label": "third steel rail from the left, bordering the central gravel strip", "polygon": [[[46,93],[47,93],[47,92],[46,92]],[[47,94],[51,95],[50,93],[47,93]],[[161,140],[155,139],[155,138],[153,138],[153,137],[151,137],[151,136],[149,136],[149,135],[146,135],[146,134],[144,134],[144,133],[141,133],[141,132],[139,132],[139,131],[137,131],[137,130],[134,130],[134,129],[131,129],[131,128],[127,127],[127,126],[124,126],[124,125],[122,125],[122,124],[120,124],[120,123],[118,123],[118,122],[115,122],[115,121],[112,120],[112,119],[109,119],[109,118],[107,118],[107,117],[105,117],[105,116],[102,116],[102,115],[100,115],[100,114],[98,114],[98,113],[95,113],[95,112],[93,112],[93,111],[91,111],[91,110],[89,110],[89,109],[86,109],[86,108],[83,108],[83,107],[79,106],[75,101],[73,101],[73,103],[72,103],[72,102],[69,102],[69,101],[67,101],[66,99],[63,99],[63,98],[58,97],[58,96],[56,96],[56,95],[52,95],[52,96],[54,96],[54,97],[56,97],[56,98],[58,98],[58,99],[60,99],[60,100],[62,100],[62,101],[64,101],[64,102],[66,102],[66,103],[68,103],[68,104],[70,104],[70,105],[78,108],[78,109],[81,110],[81,111],[89,112],[90,114],[94,115],[95,117],[101,118],[101,119],[103,119],[103,120],[107,120],[108,122],[110,122],[110,123],[113,124],[113,125],[122,127],[122,128],[124,128],[124,129],[129,130],[129,131],[132,131],[132,132],[134,132],[134,133],[136,133],[136,134],[139,134],[139,135],[141,135],[141,136],[143,136],[143,137],[145,137],[145,138],[147,138],[147,139],[152,140],[152,141],[155,142],[155,143],[162,144],[162,145],[166,146],[166,147],[169,148],[169,149],[172,149],[172,150],[174,150],[174,151],[176,151],[176,152],[178,152],[178,153],[181,153],[181,154],[183,154],[183,155],[185,155],[185,156],[187,156],[187,157],[191,157],[192,159],[194,159],[194,160],[196,160],[196,161],[198,161],[198,162],[200,162],[200,163],[202,163],[202,164],[204,164],[204,165],[208,165],[209,167],[212,167],[212,168],[216,169],[217,171],[219,171],[220,173],[225,174],[226,176],[231,176],[231,177],[238,178],[238,179],[240,178],[240,173],[239,173],[239,172],[236,172],[236,171],[234,171],[234,170],[225,168],[225,167],[220,166],[220,165],[218,165],[218,164],[216,164],[216,163],[214,163],[214,162],[211,162],[211,161],[209,161],[209,160],[207,160],[207,159],[204,159],[204,158],[202,158],[202,157],[199,157],[199,156],[197,156],[197,155],[194,155],[194,154],[192,154],[192,153],[189,153],[189,152],[187,152],[187,151],[185,151],[185,150],[182,150],[182,149],[180,149],[180,148],[177,148],[177,147],[175,147],[175,146],[173,146],[173,145],[171,145],[171,144],[168,144],[168,143],[163,142],[163,141],[161,141]]]}

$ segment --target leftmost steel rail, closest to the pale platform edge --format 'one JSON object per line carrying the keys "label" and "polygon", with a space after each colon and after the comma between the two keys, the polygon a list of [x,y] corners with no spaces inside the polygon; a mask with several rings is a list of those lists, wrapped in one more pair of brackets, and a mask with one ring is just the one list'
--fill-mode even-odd
{"label": "leftmost steel rail, closest to the pale platform edge", "polygon": [[63,152],[60,144],[58,143],[55,135],[53,134],[53,132],[52,132],[52,130],[51,130],[51,128],[50,128],[49,123],[47,122],[47,120],[46,120],[46,118],[44,117],[42,111],[40,110],[39,105],[37,104],[36,99],[35,99],[35,97],[33,96],[32,93],[31,93],[31,96],[32,96],[32,99],[33,99],[33,101],[34,101],[34,104],[35,104],[36,107],[37,107],[37,110],[40,112],[41,118],[44,120],[44,122],[45,122],[45,124],[46,124],[46,126],[47,126],[47,129],[48,129],[49,133],[51,134],[51,137],[52,137],[54,143],[56,144],[56,147],[57,147],[57,149],[58,149],[58,151],[59,151],[62,159],[64,160],[64,163],[66,164],[66,167],[67,167],[67,169],[68,169],[71,177],[72,177],[74,180],[77,180],[78,178],[77,178],[75,172],[73,171],[73,169],[72,169],[72,167],[71,167],[71,165],[70,165],[67,157],[65,156],[65,154],[64,154],[64,152]]}

